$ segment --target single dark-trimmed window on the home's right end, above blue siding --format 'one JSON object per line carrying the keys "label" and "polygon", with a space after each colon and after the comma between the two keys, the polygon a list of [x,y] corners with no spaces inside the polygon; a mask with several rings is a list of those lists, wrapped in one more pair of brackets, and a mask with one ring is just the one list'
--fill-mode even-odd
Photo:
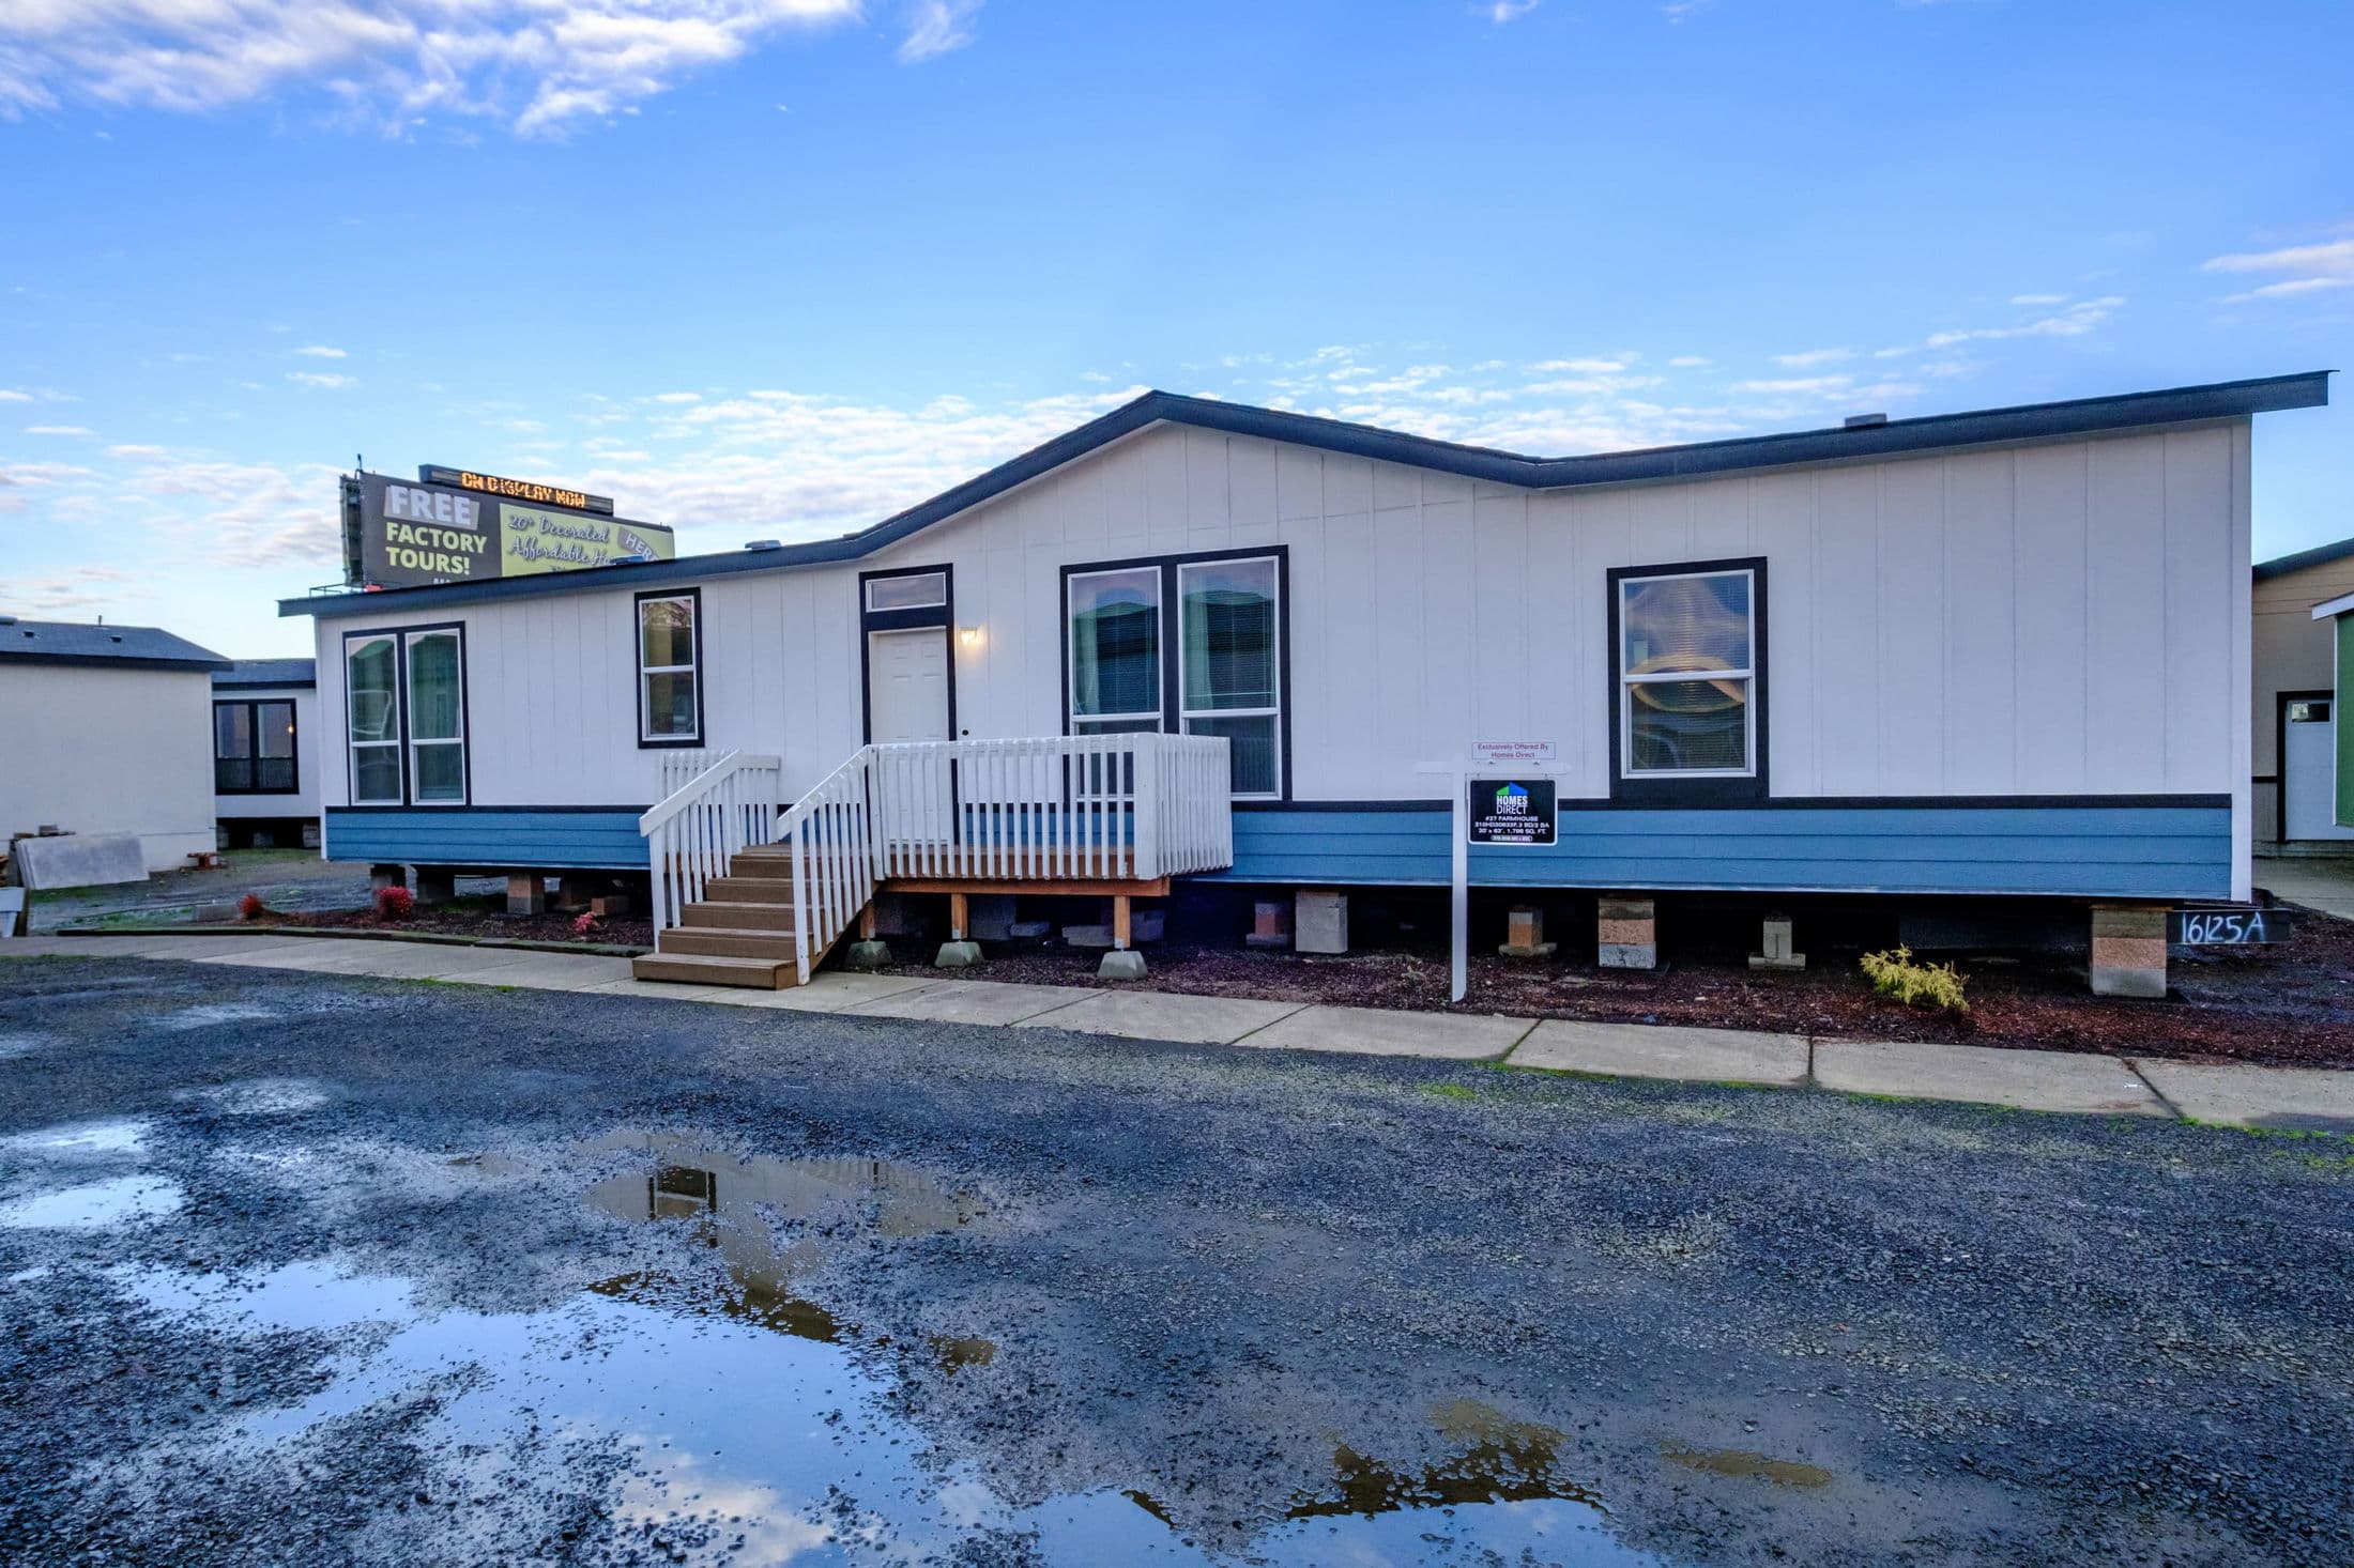
{"label": "single dark-trimmed window on the home's right end, above blue siding", "polygon": [[1756,779],[1763,563],[1612,572],[1617,777]]}

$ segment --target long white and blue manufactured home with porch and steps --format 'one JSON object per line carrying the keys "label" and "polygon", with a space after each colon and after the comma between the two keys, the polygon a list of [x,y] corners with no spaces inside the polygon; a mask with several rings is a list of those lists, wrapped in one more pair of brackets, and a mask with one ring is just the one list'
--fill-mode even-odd
{"label": "long white and blue manufactured home with porch and steps", "polygon": [[650,876],[643,975],[791,984],[878,892],[1462,866],[1636,963],[1676,899],[2039,899],[2147,991],[2248,897],[2250,421],[2326,398],[1523,457],[1146,393],[840,539],[280,612],[325,852]]}

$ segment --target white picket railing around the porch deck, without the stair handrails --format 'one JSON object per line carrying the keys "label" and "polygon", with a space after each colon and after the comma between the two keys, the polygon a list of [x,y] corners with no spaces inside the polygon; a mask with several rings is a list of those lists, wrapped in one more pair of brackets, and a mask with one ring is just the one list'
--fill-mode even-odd
{"label": "white picket railing around the porch deck, without the stair handrails", "polygon": [[871,746],[883,876],[1151,881],[1233,864],[1226,739]]}

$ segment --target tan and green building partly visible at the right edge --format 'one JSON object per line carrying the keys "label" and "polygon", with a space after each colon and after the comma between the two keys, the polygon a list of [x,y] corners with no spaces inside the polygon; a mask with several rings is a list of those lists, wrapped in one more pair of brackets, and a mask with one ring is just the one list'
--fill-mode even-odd
{"label": "tan and green building partly visible at the right edge", "polygon": [[2314,605],[2354,593],[2354,539],[2265,560],[2255,598],[2255,852],[2347,855],[2338,826],[2335,619]]}

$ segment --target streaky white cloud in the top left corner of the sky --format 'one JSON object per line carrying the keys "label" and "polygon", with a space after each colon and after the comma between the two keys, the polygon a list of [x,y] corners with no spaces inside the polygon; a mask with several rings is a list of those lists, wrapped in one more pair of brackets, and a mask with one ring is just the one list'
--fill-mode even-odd
{"label": "streaky white cloud in the top left corner of the sky", "polygon": [[[902,59],[970,38],[925,0]],[[518,132],[629,113],[859,0],[26,0],[0,7],[0,115],[64,101],[207,111],[306,89],[384,127],[487,115]]]}

